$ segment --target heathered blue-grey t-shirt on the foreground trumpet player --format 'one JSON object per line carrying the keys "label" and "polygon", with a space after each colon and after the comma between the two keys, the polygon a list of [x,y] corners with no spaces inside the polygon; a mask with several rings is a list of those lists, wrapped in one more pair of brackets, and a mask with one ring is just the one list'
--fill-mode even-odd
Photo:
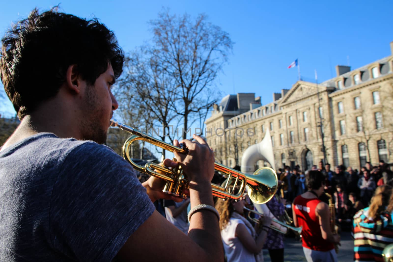
{"label": "heathered blue-grey t-shirt on the foreground trumpet player", "polygon": [[106,146],[40,133],[0,152],[0,261],[111,261],[153,211]]}

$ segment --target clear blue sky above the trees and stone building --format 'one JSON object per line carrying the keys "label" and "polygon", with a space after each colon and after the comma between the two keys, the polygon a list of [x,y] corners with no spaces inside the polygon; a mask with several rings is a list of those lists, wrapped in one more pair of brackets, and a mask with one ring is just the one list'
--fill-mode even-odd
{"label": "clear blue sky above the trees and stone building", "polygon": [[[57,4],[59,0],[5,1],[0,9],[0,35],[34,7],[46,10]],[[235,42],[217,88],[223,95],[255,93],[263,104],[272,101],[273,92],[289,89],[297,81],[296,68],[287,68],[296,58],[305,79],[312,80],[317,70],[318,81],[323,82],[335,77],[337,64],[349,63],[355,69],[387,57],[393,41],[391,0],[64,1],[60,6],[66,13],[99,18],[116,33],[126,52],[151,38],[147,22],[162,7],[193,17],[205,13]],[[8,99],[1,100],[0,114],[15,114]]]}

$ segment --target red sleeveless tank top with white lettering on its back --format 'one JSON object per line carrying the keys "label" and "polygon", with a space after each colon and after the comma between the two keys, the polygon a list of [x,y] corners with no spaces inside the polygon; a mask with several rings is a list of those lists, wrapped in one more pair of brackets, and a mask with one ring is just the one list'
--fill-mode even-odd
{"label": "red sleeveless tank top with white lettering on its back", "polygon": [[297,196],[293,202],[298,226],[301,231],[303,247],[317,251],[329,251],[334,249],[334,244],[322,238],[319,218],[315,215],[315,209],[321,200],[318,198],[303,198]]}

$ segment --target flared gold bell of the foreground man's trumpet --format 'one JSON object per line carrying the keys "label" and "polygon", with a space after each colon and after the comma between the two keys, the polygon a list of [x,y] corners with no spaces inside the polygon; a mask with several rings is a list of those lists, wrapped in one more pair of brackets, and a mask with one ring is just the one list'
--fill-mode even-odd
{"label": "flared gold bell of the foreground man's trumpet", "polygon": [[270,167],[262,167],[247,176],[248,196],[256,204],[268,202],[277,191],[277,174]]}

